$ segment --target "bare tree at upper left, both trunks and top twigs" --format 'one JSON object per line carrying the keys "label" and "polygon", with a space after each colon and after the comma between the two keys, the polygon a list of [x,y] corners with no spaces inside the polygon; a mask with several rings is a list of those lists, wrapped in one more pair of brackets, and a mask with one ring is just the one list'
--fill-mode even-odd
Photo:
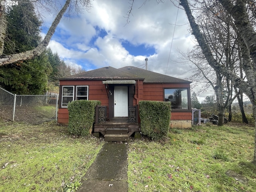
{"label": "bare tree at upper left, both trunks and top twigs", "polygon": [[[5,1],[5,0],[4,0]],[[53,6],[57,6],[58,1],[54,0],[31,0],[31,2],[34,2],[34,4],[41,5],[42,8],[46,8],[48,4],[52,4]],[[18,54],[11,54],[7,56],[0,56],[0,66],[11,64],[14,62],[24,61],[31,58],[34,58],[36,56],[39,56],[44,52],[46,47],[48,46],[50,39],[52,38],[52,35],[54,34],[58,24],[60,23],[60,20],[64,13],[68,10],[71,14],[72,11],[81,12],[82,9],[89,9],[91,7],[90,0],[66,0],[65,4],[62,6],[58,14],[56,15],[56,18],[52,22],[52,25],[50,26],[46,36],[44,37],[44,40],[33,50],[28,50],[26,52],[21,52]],[[2,29],[0,32],[0,54],[2,54],[1,49],[4,46],[4,30],[6,30],[7,21],[6,21],[6,11],[4,9],[4,6],[0,7],[0,29]],[[2,32],[3,31],[3,32]],[[2,36],[1,36],[2,35]]]}

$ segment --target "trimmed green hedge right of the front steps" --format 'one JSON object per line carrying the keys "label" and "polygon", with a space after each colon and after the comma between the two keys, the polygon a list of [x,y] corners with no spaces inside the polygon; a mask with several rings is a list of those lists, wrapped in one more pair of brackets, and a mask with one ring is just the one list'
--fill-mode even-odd
{"label": "trimmed green hedge right of the front steps", "polygon": [[171,103],[160,101],[140,101],[140,127],[141,133],[161,140],[169,131],[171,118]]}

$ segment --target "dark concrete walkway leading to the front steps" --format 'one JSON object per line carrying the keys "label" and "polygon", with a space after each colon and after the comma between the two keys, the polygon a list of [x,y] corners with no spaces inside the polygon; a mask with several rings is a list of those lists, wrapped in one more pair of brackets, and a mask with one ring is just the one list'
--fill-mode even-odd
{"label": "dark concrete walkway leading to the front steps", "polygon": [[128,144],[106,142],[90,166],[78,192],[127,192]]}

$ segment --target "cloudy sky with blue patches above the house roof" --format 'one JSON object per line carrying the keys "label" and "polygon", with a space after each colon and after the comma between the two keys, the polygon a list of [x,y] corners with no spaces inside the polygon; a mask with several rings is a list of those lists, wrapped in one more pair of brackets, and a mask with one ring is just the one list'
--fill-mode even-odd
{"label": "cloudy sky with blue patches above the house roof", "polygon": [[[63,17],[49,47],[71,66],[93,70],[104,66],[144,68],[186,79],[189,68],[177,63],[177,50],[194,46],[184,10],[170,0],[135,0],[127,23],[130,0],[94,0],[89,12]],[[45,14],[42,36],[56,12]],[[177,18],[177,19],[176,19]],[[176,27],[175,27],[176,23]],[[175,30],[174,30],[175,28]],[[170,55],[170,56],[169,56]],[[192,91],[198,92],[196,87]],[[197,94],[199,100],[212,92]]]}

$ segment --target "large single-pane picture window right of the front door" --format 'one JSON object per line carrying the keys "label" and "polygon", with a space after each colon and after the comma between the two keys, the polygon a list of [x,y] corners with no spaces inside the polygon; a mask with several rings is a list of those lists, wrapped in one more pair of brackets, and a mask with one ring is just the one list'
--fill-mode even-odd
{"label": "large single-pane picture window right of the front door", "polygon": [[172,103],[172,109],[188,109],[186,88],[164,89],[164,100]]}

